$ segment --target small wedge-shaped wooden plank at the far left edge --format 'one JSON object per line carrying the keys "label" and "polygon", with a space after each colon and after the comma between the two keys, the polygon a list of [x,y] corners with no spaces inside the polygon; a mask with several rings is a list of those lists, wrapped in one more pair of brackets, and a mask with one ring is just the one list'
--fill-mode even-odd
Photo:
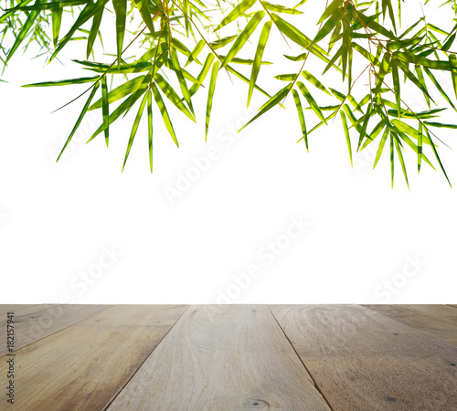
{"label": "small wedge-shaped wooden plank at the far left edge", "polygon": [[[37,304],[4,305],[0,318],[0,338],[6,341],[6,312],[15,312],[15,350],[85,320],[111,305]],[[0,357],[6,355],[5,344],[0,345]]]}

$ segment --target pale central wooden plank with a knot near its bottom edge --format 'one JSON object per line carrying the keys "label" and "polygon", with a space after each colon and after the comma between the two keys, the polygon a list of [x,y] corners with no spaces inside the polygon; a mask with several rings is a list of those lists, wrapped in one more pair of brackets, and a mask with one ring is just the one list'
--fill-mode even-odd
{"label": "pale central wooden plank with a knot near its bottom edge", "polygon": [[328,410],[266,306],[192,306],[112,410]]}

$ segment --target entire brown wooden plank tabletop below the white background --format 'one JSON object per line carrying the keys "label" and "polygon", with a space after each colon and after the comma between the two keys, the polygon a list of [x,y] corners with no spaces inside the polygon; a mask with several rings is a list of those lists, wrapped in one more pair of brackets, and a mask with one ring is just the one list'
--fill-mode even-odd
{"label": "entire brown wooden plank tabletop below the white background", "polygon": [[457,411],[457,306],[0,305],[2,353],[8,311],[2,411]]}

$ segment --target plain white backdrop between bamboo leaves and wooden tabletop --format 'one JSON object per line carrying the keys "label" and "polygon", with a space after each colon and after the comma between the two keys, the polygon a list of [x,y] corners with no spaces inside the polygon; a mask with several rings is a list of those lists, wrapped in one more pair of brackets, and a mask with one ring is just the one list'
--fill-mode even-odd
{"label": "plain white backdrop between bamboo leaves and wooden tabletop", "polygon": [[[0,84],[2,303],[455,302],[457,194],[440,171],[418,177],[410,152],[410,191],[399,163],[391,189],[386,153],[375,171],[369,151],[351,168],[339,121],[307,153],[291,104],[237,134],[255,111],[226,75],[207,143],[206,93],[197,126],[170,110],[179,149],[155,114],[154,174],[146,121],[121,173],[134,113],[107,150],[102,135],[85,145],[101,121],[92,111],[56,164],[84,101],[49,113],[85,86],[19,86],[85,75],[69,61],[79,47],[67,68],[17,53]],[[278,90],[269,69],[262,84]],[[455,132],[439,135],[455,149]],[[440,153],[456,183],[455,152]]]}

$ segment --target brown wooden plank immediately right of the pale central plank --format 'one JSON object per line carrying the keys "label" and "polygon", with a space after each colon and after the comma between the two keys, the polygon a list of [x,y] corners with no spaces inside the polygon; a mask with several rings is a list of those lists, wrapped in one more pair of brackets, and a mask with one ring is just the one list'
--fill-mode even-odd
{"label": "brown wooden plank immediately right of the pale central plank", "polygon": [[357,305],[271,311],[333,409],[457,409],[451,344]]}

